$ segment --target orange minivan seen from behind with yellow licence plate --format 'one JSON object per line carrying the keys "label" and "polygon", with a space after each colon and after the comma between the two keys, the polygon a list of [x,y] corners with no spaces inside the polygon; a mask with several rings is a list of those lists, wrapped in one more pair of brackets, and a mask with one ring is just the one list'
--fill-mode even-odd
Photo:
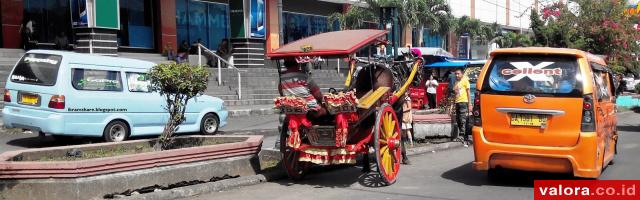
{"label": "orange minivan seen from behind with yellow licence plate", "polygon": [[499,49],[477,84],[475,169],[597,178],[613,163],[615,93],[602,58],[575,49]]}

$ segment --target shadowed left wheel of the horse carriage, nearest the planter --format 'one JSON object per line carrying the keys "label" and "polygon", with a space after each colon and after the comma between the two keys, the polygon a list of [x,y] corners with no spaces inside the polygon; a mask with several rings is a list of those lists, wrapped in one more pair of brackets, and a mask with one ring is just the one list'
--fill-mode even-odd
{"label": "shadowed left wheel of the horse carriage, nearest the planter", "polygon": [[280,132],[280,152],[282,153],[282,166],[290,179],[294,181],[302,180],[309,169],[308,162],[300,162],[300,152],[287,146],[289,136],[289,119],[285,118]]}

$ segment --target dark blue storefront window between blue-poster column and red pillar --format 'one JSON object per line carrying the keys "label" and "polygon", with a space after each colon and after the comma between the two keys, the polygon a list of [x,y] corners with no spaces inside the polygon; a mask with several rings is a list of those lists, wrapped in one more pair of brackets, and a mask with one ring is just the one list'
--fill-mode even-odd
{"label": "dark blue storefront window between blue-poster column and red pillar", "polygon": [[120,1],[120,46],[153,48],[152,0]]}

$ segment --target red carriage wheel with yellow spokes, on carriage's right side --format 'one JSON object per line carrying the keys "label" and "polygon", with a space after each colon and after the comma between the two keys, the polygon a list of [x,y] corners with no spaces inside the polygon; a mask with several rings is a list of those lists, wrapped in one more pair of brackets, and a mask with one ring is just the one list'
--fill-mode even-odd
{"label": "red carriage wheel with yellow spokes, on carriage's right side", "polygon": [[378,109],[373,142],[378,172],[382,180],[391,185],[396,182],[400,169],[401,140],[398,117],[389,104]]}

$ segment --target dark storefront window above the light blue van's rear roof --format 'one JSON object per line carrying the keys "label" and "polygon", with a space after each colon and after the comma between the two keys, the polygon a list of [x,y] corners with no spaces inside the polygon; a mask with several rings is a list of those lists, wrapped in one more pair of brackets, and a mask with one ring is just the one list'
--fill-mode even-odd
{"label": "dark storefront window above the light blue van's rear roof", "polygon": [[23,0],[24,21],[33,22],[33,39],[53,45],[56,35],[73,41],[69,0]]}

